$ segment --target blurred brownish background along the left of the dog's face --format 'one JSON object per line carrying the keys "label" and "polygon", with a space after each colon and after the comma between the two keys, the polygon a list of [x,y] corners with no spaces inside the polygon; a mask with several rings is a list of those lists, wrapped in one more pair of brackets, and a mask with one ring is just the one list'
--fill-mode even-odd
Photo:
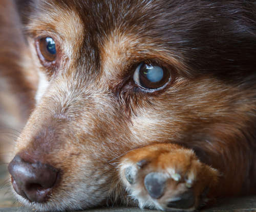
{"label": "blurred brownish background along the left of the dog's face", "polygon": [[14,1],[0,0],[0,207],[19,205],[11,192],[8,163],[34,104],[29,58]]}

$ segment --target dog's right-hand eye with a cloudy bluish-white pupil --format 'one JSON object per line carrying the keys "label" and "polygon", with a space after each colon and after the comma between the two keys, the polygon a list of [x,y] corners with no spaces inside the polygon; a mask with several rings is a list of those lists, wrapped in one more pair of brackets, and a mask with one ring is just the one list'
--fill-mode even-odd
{"label": "dog's right-hand eye with a cloudy bluish-white pupil", "polygon": [[170,79],[170,73],[163,67],[151,63],[140,63],[133,75],[133,80],[139,86],[156,90],[164,87]]}

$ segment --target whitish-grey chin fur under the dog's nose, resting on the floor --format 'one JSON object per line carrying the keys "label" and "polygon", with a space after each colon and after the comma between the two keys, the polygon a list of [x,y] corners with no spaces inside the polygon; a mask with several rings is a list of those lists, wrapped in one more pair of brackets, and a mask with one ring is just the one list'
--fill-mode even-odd
{"label": "whitish-grey chin fur under the dog's nose, resting on the floor", "polygon": [[[12,192],[16,199],[24,206],[38,211],[70,211],[70,210],[83,210],[95,206],[100,206],[102,201],[105,199],[104,194],[101,197],[92,197],[93,195],[84,194],[80,191],[72,193],[72,196],[67,196],[65,191],[63,195],[59,197],[50,197],[47,202],[38,203],[31,202],[28,199],[18,195],[12,188]],[[90,198],[88,197],[90,196]],[[85,198],[84,198],[85,197]],[[91,199],[91,200],[89,200]]]}

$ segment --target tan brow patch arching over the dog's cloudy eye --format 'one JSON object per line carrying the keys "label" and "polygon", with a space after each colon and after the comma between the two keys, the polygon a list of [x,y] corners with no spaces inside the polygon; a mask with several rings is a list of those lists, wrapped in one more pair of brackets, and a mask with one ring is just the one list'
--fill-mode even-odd
{"label": "tan brow patch arching over the dog's cloudy eye", "polygon": [[[169,49],[161,48],[159,40],[147,37],[138,38],[132,33],[125,34],[121,29],[105,36],[100,52],[103,74],[108,77],[110,87],[118,84],[125,71],[129,71],[133,65],[131,61],[139,62],[142,58],[160,58],[163,62],[168,61],[169,64],[179,67],[180,70],[185,69]],[[116,79],[114,84],[113,79]]]}

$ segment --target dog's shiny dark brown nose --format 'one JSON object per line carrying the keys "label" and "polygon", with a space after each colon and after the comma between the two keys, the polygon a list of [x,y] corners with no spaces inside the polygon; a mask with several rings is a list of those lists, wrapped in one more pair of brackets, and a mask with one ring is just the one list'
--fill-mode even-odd
{"label": "dog's shiny dark brown nose", "polygon": [[8,166],[14,190],[31,202],[45,202],[52,192],[58,171],[54,167],[25,162],[16,155]]}

